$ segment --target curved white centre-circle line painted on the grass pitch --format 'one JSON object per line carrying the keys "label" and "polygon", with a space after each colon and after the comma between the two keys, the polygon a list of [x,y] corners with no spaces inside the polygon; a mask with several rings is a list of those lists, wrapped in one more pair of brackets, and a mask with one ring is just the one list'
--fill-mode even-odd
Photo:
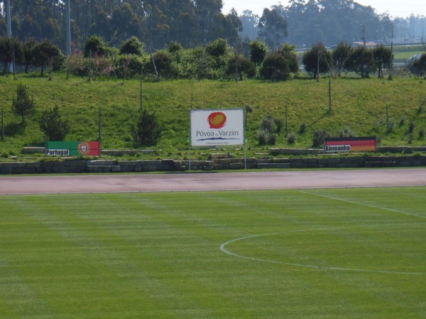
{"label": "curved white centre-circle line painted on the grass pitch", "polygon": [[238,242],[241,240],[251,239],[254,237],[261,237],[261,236],[271,236],[271,235],[278,235],[278,234],[285,234],[285,233],[300,233],[300,232],[309,232],[309,231],[315,231],[315,230],[336,230],[336,229],[344,229],[344,228],[372,228],[372,227],[383,227],[383,226],[400,226],[400,225],[425,225],[426,223],[405,223],[405,224],[383,224],[383,225],[365,225],[365,226],[344,226],[344,227],[336,227],[336,228],[310,228],[310,229],[302,229],[302,230],[288,230],[285,232],[277,232],[277,233],[266,233],[266,234],[260,234],[260,235],[251,235],[251,236],[245,236],[245,237],[239,237],[235,238],[233,240],[229,240],[227,242],[224,242],[222,245],[220,245],[220,250],[226,254],[230,254],[234,257],[240,257],[244,259],[251,259],[256,260],[258,262],[271,262],[273,264],[287,264],[290,266],[297,266],[297,267],[306,267],[306,268],[314,268],[314,269],[329,269],[329,270],[339,270],[339,271],[350,271],[350,272],[376,272],[381,274],[415,274],[415,275],[422,275],[421,272],[393,272],[388,270],[372,270],[372,269],[354,269],[354,268],[343,268],[343,267],[322,267],[322,266],[315,266],[311,264],[297,264],[293,262],[279,262],[278,260],[269,260],[269,259],[263,259],[263,258],[256,258],[256,257],[250,257],[250,256],[244,256],[242,254],[236,254],[234,252],[230,252],[225,248],[226,245],[231,244],[232,242]]}

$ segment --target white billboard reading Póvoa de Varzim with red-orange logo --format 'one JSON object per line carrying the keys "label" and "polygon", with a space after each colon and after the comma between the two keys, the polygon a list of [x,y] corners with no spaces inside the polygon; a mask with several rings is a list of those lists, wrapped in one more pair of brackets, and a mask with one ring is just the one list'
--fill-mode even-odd
{"label": "white billboard reading P\u00f3voa de Varzim with red-orange logo", "polygon": [[244,145],[244,111],[191,111],[191,145]]}

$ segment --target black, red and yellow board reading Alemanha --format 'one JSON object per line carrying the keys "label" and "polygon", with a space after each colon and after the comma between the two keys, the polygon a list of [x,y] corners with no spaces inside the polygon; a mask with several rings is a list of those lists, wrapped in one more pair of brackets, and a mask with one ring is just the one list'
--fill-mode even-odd
{"label": "black, red and yellow board reading Alemanha", "polygon": [[376,138],[325,138],[325,152],[361,152],[375,151]]}

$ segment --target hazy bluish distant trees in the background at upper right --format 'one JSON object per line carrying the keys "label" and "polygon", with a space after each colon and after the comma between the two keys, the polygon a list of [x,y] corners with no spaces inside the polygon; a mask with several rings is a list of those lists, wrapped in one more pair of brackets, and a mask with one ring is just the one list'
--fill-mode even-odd
{"label": "hazy bluish distant trees in the background at upper right", "polygon": [[352,0],[290,0],[288,6],[264,9],[262,16],[244,11],[240,16],[243,38],[261,38],[270,47],[294,43],[309,47],[322,42],[327,46],[367,41],[391,43],[396,39],[421,41],[425,16],[391,19],[388,13],[376,13],[371,6]]}

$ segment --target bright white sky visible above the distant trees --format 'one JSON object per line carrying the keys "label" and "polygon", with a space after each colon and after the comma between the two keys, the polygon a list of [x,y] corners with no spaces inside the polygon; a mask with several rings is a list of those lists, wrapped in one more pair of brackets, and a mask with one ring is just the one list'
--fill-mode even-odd
{"label": "bright white sky visible above the distant trees", "polygon": [[[270,8],[275,4],[288,6],[286,0],[222,0],[223,12],[229,13],[232,8],[241,14],[248,9],[262,15],[263,8]],[[413,13],[415,16],[426,16],[426,0],[354,0],[363,6],[371,6],[377,14],[389,13],[391,18],[407,18]]]}

